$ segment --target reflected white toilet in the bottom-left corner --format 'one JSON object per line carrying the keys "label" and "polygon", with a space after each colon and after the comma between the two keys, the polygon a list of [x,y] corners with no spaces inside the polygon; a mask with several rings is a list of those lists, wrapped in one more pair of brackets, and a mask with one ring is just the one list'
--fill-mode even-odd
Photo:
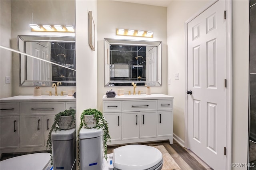
{"label": "reflected white toilet in the bottom-left corner", "polygon": [[50,170],[49,153],[36,153],[16,156],[0,162],[1,170]]}

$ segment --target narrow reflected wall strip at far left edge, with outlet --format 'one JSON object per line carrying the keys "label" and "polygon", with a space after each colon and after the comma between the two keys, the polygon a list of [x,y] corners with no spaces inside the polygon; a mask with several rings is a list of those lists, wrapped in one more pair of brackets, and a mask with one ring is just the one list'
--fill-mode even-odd
{"label": "narrow reflected wall strip at far left edge, with outlet", "polygon": [[[11,1],[0,1],[0,44],[9,47],[11,39]],[[12,76],[12,52],[0,49],[0,98],[12,96],[12,84],[5,84],[5,76]],[[11,82],[12,83],[12,82]]]}

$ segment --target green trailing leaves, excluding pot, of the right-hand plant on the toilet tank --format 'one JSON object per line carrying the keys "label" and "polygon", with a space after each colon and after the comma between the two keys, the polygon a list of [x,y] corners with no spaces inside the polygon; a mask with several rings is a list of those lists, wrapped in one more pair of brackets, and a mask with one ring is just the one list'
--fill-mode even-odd
{"label": "green trailing leaves, excluding pot, of the right-hand plant on the toilet tank", "polygon": [[96,121],[96,127],[92,127],[92,128],[102,128],[103,130],[103,146],[104,146],[104,158],[107,160],[107,141],[111,142],[110,140],[110,134],[109,134],[109,130],[108,130],[108,123],[106,121],[106,119],[103,117],[102,112],[98,111],[97,109],[86,109],[82,112],[81,116],[80,116],[80,126],[78,129],[78,168],[80,169],[80,146],[79,146],[79,132],[82,129],[82,127],[85,128],[89,128],[86,126],[86,123],[84,121],[84,115],[94,115],[94,119]]}

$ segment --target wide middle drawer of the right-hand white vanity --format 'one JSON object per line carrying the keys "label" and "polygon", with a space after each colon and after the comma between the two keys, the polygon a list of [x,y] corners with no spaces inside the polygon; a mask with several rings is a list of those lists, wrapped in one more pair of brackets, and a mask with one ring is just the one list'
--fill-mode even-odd
{"label": "wide middle drawer of the right-hand white vanity", "polygon": [[156,100],[129,100],[122,101],[122,111],[156,111]]}

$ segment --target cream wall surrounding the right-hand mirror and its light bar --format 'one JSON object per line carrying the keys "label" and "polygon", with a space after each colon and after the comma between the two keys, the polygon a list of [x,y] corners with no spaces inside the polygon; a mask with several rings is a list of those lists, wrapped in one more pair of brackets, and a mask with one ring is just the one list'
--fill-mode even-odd
{"label": "cream wall surrounding the right-hand mirror and its light bar", "polygon": [[[98,0],[98,109],[102,111],[102,96],[120,87],[104,87],[104,38],[162,41],[162,87],[151,87],[151,93],[167,94],[166,7]],[[116,36],[116,28],[153,31],[154,38]],[[131,87],[122,87],[124,91]],[[137,87],[146,93],[145,87]],[[127,93],[127,92],[126,92]]]}

